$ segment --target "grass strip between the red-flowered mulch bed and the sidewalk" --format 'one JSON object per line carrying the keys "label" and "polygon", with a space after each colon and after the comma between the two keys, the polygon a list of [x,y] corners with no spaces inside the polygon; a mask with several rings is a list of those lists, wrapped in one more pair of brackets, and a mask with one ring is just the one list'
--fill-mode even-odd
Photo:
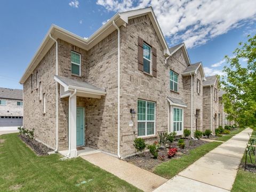
{"label": "grass strip between the red-flowered mulch bed and the sidewalk", "polygon": [[209,142],[189,151],[188,155],[183,155],[178,159],[171,159],[168,162],[161,163],[155,167],[154,173],[166,179],[171,179],[174,175],[194,163],[197,159],[209,153],[215,147],[221,145],[221,142]]}

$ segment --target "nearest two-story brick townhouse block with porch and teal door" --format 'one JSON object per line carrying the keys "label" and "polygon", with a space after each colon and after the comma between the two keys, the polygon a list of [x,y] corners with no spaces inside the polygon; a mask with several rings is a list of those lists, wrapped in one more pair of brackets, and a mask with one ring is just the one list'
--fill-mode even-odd
{"label": "nearest two-story brick townhouse block with porch and teal door", "polygon": [[204,79],[185,44],[169,49],[151,7],[117,13],[88,39],[52,26],[20,79],[24,126],[69,157],[77,146],[129,156],[137,137],[202,130]]}

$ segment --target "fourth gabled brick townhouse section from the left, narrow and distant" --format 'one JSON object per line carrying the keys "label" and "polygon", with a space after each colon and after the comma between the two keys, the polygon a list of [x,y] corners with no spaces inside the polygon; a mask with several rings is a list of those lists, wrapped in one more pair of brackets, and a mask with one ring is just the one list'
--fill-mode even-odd
{"label": "fourth gabled brick townhouse section from the left, narrow and distant", "polygon": [[219,126],[219,81],[218,76],[206,77],[203,82],[203,128],[215,133]]}

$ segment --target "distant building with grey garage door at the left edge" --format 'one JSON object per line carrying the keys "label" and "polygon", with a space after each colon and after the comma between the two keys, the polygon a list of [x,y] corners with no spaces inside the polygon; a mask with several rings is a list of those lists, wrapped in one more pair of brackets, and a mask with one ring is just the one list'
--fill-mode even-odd
{"label": "distant building with grey garage door at the left edge", "polygon": [[0,87],[0,127],[22,124],[23,91]]}

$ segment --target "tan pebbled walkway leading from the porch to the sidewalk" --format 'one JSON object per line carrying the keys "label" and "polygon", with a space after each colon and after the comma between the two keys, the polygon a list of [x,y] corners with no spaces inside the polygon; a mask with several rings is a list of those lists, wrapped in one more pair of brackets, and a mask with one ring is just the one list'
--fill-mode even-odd
{"label": "tan pebbled walkway leading from the porch to the sidewalk", "polygon": [[154,173],[107,154],[97,153],[81,157],[143,191],[153,191],[167,181]]}

